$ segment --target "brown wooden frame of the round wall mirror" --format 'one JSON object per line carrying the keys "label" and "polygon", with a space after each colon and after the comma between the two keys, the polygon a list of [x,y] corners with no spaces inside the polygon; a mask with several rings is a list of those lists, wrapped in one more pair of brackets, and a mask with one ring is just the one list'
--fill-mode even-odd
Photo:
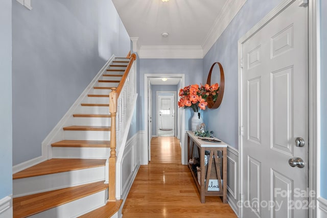
{"label": "brown wooden frame of the round wall mirror", "polygon": [[218,91],[218,97],[217,97],[216,102],[213,101],[213,96],[212,95],[209,95],[207,97],[207,99],[206,99],[206,102],[208,103],[208,108],[211,108],[211,109],[216,109],[216,108],[218,108],[220,106],[221,101],[223,100],[224,88],[225,88],[224,69],[223,69],[223,66],[219,62],[215,62],[211,66],[209,74],[208,74],[208,78],[206,80],[206,84],[211,86],[211,73],[212,73],[212,71],[214,69],[215,64],[218,64],[219,69],[220,69],[220,82],[218,83],[219,84],[219,91]]}

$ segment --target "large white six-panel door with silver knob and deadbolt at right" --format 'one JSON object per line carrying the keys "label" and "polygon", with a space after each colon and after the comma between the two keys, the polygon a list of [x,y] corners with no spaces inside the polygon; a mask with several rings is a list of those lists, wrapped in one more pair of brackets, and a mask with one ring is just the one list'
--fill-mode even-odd
{"label": "large white six-panel door with silver knob and deadbolt at right", "polygon": [[244,218],[308,217],[307,20],[295,1],[242,44]]}

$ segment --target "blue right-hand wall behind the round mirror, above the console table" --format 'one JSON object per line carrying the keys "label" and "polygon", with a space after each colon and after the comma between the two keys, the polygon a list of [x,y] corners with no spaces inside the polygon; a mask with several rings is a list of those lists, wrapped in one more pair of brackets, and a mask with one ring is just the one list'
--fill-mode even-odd
{"label": "blue right-hand wall behind the round mirror, above the console table", "polygon": [[[205,110],[203,118],[207,130],[238,148],[238,40],[258,23],[281,0],[247,0],[223,34],[203,59],[203,81],[210,67],[220,62],[224,68],[225,90],[218,109]],[[249,14],[250,13],[250,14]]]}

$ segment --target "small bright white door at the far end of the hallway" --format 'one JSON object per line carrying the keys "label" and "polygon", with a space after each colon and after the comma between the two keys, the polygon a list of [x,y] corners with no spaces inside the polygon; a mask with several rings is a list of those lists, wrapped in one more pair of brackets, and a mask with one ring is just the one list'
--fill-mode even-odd
{"label": "small bright white door at the far end of the hallway", "polygon": [[158,97],[159,130],[174,130],[174,96]]}

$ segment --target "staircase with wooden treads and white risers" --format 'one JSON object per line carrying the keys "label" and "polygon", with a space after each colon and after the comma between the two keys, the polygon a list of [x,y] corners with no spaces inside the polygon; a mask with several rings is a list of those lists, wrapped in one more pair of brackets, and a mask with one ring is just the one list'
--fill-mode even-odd
{"label": "staircase with wooden treads and white risers", "polygon": [[[109,166],[115,163],[118,132],[110,132],[109,93],[123,86],[131,63],[130,58],[110,63],[67,119],[62,140],[51,143],[51,159],[13,174],[13,217],[111,217],[120,209],[122,200],[114,196],[115,165]],[[108,161],[109,156],[113,159]]]}

